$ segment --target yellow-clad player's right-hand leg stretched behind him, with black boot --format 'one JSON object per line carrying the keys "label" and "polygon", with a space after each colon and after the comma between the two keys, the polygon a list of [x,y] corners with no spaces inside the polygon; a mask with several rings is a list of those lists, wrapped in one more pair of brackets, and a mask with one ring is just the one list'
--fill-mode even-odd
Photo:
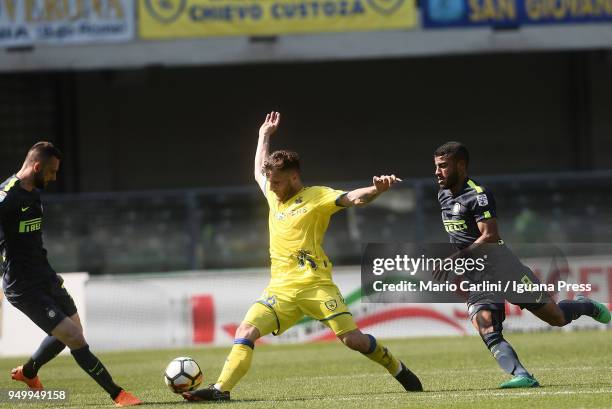
{"label": "yellow-clad player's right-hand leg stretched behind him, with black boot", "polygon": [[304,314],[327,325],[347,347],[361,352],[384,367],[406,390],[421,391],[419,379],[372,335],[363,334],[355,324],[338,288],[323,285],[298,293],[298,305]]}

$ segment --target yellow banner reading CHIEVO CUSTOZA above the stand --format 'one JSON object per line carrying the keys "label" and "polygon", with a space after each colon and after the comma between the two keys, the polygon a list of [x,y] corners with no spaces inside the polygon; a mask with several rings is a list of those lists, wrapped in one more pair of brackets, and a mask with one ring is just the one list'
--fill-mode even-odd
{"label": "yellow banner reading CHIEVO CUSTOZA above the stand", "polygon": [[407,29],[415,0],[140,0],[141,38]]}

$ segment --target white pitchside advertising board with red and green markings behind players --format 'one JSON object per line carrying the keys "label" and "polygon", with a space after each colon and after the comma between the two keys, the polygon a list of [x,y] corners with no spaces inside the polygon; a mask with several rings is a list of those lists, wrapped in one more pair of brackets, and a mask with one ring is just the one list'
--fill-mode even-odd
{"label": "white pitchside advertising board with red and green markings behind players", "polygon": [[[550,260],[524,261],[536,275],[549,271]],[[568,263],[568,273],[577,282],[591,283],[589,296],[610,299],[612,264],[609,258],[577,257],[568,259]],[[476,334],[465,303],[369,302],[360,280],[360,267],[334,270],[334,282],[355,321],[362,330],[376,337]],[[244,314],[261,297],[268,280],[267,269],[93,277],[86,287],[88,341],[99,350],[232,345]],[[560,298],[574,297],[570,293],[560,295]],[[598,325],[584,317],[564,330],[599,328]],[[508,303],[504,328],[537,331],[547,330],[549,326],[527,310]],[[259,342],[309,343],[335,339],[323,323],[303,317],[282,335],[268,335]]]}

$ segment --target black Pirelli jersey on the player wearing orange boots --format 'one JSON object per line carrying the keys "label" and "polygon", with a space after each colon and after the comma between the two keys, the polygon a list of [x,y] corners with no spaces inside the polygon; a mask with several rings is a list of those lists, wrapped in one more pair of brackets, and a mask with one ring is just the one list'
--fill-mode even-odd
{"label": "black Pirelli jersey on the player wearing orange boots", "polygon": [[16,176],[0,184],[2,286],[7,296],[19,295],[55,277],[43,248],[42,227],[38,189],[23,189]]}

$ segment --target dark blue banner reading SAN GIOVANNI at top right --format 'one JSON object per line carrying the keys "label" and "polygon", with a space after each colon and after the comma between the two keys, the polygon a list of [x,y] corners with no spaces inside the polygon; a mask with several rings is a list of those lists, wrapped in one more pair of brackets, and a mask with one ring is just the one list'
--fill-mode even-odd
{"label": "dark blue banner reading SAN GIOVANNI at top right", "polygon": [[428,28],[612,21],[611,0],[426,0],[422,10]]}

